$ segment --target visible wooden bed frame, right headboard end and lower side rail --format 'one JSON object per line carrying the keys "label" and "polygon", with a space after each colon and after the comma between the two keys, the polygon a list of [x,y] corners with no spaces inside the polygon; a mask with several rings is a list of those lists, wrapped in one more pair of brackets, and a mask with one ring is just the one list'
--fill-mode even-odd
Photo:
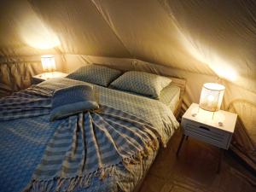
{"label": "visible wooden bed frame, right headboard end and lower side rail", "polygon": [[[172,78],[172,77],[169,77],[169,78],[172,79],[172,84],[175,84],[177,87],[180,88],[179,101],[177,102],[176,107],[173,111],[173,114],[174,114],[175,118],[178,119],[178,117],[181,113],[181,108],[182,108],[182,103],[183,103],[183,96],[184,96],[185,90],[186,90],[186,80],[185,79]],[[157,152],[156,156],[157,155],[158,155],[158,152]],[[155,156],[155,158],[156,158],[156,156]],[[154,161],[153,161],[153,163],[154,163]],[[152,165],[153,165],[153,163],[152,163]],[[149,171],[151,166],[149,166],[149,168],[148,168],[147,172],[144,174],[143,178],[137,183],[137,186],[135,187],[135,189],[133,189],[134,192],[139,192],[140,191],[140,189],[143,185],[143,181],[144,181],[145,177],[147,176],[148,171]]]}

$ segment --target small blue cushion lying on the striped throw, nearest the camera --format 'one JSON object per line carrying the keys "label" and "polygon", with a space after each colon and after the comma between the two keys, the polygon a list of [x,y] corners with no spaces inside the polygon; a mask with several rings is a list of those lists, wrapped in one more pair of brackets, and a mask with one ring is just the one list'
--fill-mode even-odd
{"label": "small blue cushion lying on the striped throw, nearest the camera", "polygon": [[61,119],[90,109],[99,108],[91,85],[75,85],[56,90],[49,119]]}

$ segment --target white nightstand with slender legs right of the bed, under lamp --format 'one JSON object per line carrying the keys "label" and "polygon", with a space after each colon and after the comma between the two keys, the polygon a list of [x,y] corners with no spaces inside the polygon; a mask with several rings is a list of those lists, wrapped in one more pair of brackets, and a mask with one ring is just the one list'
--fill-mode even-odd
{"label": "white nightstand with slender legs right of the bed, under lamp", "polygon": [[223,110],[209,112],[199,108],[198,104],[193,103],[186,113],[183,114],[181,126],[183,137],[177,148],[177,155],[182,147],[184,137],[193,137],[205,143],[210,143],[221,148],[221,156],[218,162],[218,172],[224,153],[223,149],[230,147],[232,135],[236,126],[236,113]]}

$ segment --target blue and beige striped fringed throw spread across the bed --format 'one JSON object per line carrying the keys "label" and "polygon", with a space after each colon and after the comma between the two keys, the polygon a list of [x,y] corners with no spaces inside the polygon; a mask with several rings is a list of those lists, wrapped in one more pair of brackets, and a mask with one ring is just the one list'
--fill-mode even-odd
{"label": "blue and beige striped fringed throw spread across the bed", "polygon": [[[0,101],[0,121],[50,112],[53,90],[33,86]],[[53,137],[26,191],[73,191],[93,177],[129,170],[158,148],[160,132],[147,121],[107,105],[57,120]]]}

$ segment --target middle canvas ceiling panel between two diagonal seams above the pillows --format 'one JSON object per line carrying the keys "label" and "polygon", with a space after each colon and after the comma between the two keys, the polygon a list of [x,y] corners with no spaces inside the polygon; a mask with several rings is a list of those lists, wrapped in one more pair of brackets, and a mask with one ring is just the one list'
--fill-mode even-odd
{"label": "middle canvas ceiling panel between two diagonal seams above the pillows", "polygon": [[188,55],[181,44],[177,27],[158,1],[93,2],[135,58],[194,72],[211,73],[206,65]]}

